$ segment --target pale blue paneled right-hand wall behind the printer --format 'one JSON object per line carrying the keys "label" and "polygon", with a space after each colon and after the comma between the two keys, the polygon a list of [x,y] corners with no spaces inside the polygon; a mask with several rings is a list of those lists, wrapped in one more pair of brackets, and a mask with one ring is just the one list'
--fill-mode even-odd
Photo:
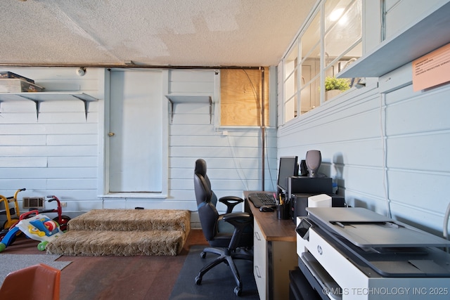
{"label": "pale blue paneled right-hand wall behind the printer", "polygon": [[[366,33],[371,25],[379,27],[379,20],[367,18],[376,6],[372,2],[365,2]],[[446,2],[385,1],[387,38]],[[378,35],[369,30],[370,49]],[[450,203],[450,85],[414,93],[411,81],[411,64],[406,64],[279,126],[278,156],[304,158],[307,150],[321,150],[320,171],[335,179],[349,205],[390,214],[442,236]],[[282,96],[278,94],[278,119]]]}

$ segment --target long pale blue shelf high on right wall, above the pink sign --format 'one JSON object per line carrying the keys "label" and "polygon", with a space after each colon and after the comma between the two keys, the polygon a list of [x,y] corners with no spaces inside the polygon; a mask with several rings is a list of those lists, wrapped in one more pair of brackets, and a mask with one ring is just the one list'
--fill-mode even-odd
{"label": "long pale blue shelf high on right wall, above the pink sign", "polygon": [[405,30],[338,73],[339,78],[381,77],[449,43],[450,2],[432,8]]}

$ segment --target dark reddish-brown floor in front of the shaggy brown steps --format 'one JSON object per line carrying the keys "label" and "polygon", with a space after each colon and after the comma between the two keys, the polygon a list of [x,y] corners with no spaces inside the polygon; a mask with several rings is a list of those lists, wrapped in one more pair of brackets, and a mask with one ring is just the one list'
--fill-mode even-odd
{"label": "dark reddish-brown floor in front of the shaggy brown steps", "polygon": [[[37,241],[18,238],[5,251],[43,254]],[[178,256],[61,256],[72,261],[61,271],[60,299],[169,299],[191,245],[207,245],[192,229]],[[192,278],[194,283],[194,279]]]}

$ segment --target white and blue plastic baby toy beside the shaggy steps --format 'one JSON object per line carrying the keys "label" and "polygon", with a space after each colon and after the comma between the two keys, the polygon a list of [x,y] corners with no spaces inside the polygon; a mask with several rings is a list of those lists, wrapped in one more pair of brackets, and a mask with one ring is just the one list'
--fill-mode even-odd
{"label": "white and blue plastic baby toy beside the shaggy steps", "polygon": [[[36,216],[29,217],[30,214],[36,214]],[[44,251],[46,244],[53,239],[63,235],[58,222],[49,219],[48,216],[39,214],[37,210],[28,211],[20,215],[19,223],[15,224],[1,240],[0,252],[3,252],[14,241],[14,237],[19,230],[32,240],[40,241],[37,245],[37,249],[40,251]]]}

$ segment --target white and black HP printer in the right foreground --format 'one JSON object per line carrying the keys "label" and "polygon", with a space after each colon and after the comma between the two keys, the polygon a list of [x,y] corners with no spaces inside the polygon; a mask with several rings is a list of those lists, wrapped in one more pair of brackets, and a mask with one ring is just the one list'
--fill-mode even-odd
{"label": "white and black HP printer in the right foreground", "polygon": [[355,207],[297,217],[299,267],[322,299],[449,299],[450,242]]}

